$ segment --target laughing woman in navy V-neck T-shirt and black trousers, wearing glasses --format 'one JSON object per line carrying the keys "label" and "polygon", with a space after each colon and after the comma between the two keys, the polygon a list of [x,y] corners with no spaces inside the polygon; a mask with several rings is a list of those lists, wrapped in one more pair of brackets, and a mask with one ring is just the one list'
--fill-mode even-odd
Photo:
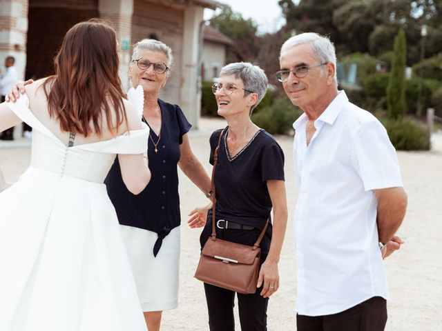
{"label": "laughing woman in navy V-neck T-shirt and black trousers, wearing glasses", "polygon": [[[276,140],[258,128],[250,117],[266,90],[267,77],[258,66],[231,63],[222,68],[213,93],[218,114],[227,120],[228,126],[216,130],[210,138],[211,164],[220,141],[215,168],[217,238],[253,245],[273,208],[273,226],[269,224],[260,243],[257,290],[253,294],[237,293],[241,329],[255,331],[267,330],[267,304],[279,288],[278,261],[287,225],[284,154]],[[208,208],[196,208],[188,221],[191,228],[205,225],[201,247],[212,232]],[[236,292],[207,283],[204,290],[210,330],[234,331]]]}

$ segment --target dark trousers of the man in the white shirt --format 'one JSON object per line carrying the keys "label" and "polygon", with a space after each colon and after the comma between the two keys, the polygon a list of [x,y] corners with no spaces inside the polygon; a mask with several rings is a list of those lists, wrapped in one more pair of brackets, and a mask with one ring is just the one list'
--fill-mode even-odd
{"label": "dark trousers of the man in the white shirt", "polygon": [[325,316],[296,315],[298,331],[383,331],[387,323],[387,301],[372,297],[352,308]]}

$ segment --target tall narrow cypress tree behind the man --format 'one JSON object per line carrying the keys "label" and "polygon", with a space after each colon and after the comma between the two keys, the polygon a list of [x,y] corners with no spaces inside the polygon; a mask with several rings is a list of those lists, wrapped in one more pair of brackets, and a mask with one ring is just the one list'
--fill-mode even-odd
{"label": "tall narrow cypress tree behind the man", "polygon": [[405,63],[407,43],[405,32],[401,28],[394,38],[392,72],[387,86],[387,109],[391,119],[400,119],[407,108],[405,104]]}

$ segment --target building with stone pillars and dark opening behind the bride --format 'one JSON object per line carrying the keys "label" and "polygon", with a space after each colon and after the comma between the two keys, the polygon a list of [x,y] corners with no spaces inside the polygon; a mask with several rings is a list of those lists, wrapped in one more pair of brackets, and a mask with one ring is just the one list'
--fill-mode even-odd
{"label": "building with stone pillars and dark opening behind the bride", "polygon": [[160,97],[180,105],[197,127],[203,11],[218,6],[213,0],[0,0],[0,66],[12,55],[23,79],[52,74],[66,31],[85,19],[107,19],[119,39],[124,88],[133,43],[150,37],[171,46],[175,63]]}

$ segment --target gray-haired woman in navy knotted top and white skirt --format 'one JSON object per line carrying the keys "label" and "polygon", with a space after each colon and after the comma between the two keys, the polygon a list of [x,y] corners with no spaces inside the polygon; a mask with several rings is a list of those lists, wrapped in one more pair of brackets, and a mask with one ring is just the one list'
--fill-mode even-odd
{"label": "gray-haired woman in navy knotted top and white skirt", "polygon": [[138,195],[123,185],[115,161],[106,178],[126,243],[149,331],[160,330],[162,310],[177,308],[180,262],[180,197],[177,165],[206,194],[210,179],[191,150],[191,124],[179,106],[158,99],[173,65],[172,50],[154,39],[135,43],[129,67],[134,87],[144,90],[143,121],[151,128],[151,183]]}

